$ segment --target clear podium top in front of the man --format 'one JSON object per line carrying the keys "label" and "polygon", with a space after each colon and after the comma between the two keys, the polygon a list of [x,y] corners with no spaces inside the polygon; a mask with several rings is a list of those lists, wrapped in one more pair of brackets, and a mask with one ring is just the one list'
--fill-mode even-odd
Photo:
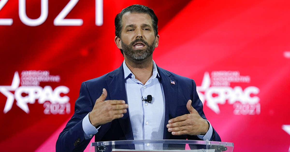
{"label": "clear podium top in front of the man", "polygon": [[202,140],[119,140],[93,142],[90,152],[233,152],[231,142]]}

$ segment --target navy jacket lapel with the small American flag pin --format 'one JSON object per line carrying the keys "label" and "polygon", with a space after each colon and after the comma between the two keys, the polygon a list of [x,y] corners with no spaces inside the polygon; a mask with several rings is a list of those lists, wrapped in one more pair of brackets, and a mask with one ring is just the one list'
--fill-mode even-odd
{"label": "navy jacket lapel with the small American flag pin", "polygon": [[[171,133],[168,132],[166,125],[168,120],[175,116],[176,105],[178,101],[178,82],[168,71],[157,67],[158,73],[160,74],[161,83],[165,96],[165,121],[164,121],[164,133],[163,139],[169,139]],[[173,81],[173,83],[171,83]]]}

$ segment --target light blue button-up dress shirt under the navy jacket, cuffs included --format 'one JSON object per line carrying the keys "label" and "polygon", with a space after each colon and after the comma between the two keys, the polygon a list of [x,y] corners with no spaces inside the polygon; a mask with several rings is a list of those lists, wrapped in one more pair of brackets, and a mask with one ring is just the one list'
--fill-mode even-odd
{"label": "light blue button-up dress shirt under the navy jacket, cuffs included", "polygon": [[[160,82],[160,76],[153,61],[153,74],[143,85],[135,79],[135,75],[123,62],[125,88],[128,101],[128,112],[131,120],[134,140],[161,140],[164,132],[165,119],[165,97],[163,87]],[[152,102],[142,101],[152,96]],[[207,120],[208,121],[208,120]],[[208,121],[209,122],[209,121]],[[82,121],[85,139],[90,139],[98,132],[89,120],[88,114]],[[206,135],[197,135],[203,140],[210,140],[213,128],[209,123],[209,130]],[[136,145],[135,145],[136,146]],[[136,149],[153,149],[154,145],[145,144],[135,147]],[[157,145],[156,145],[157,146]]]}

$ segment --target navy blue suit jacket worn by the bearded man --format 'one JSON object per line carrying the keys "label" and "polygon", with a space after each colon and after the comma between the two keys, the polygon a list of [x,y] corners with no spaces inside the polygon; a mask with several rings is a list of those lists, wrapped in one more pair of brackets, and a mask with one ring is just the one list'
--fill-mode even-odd
{"label": "navy blue suit jacket worn by the bearded man", "polygon": [[[189,113],[186,103],[192,100],[192,106],[200,116],[206,119],[203,105],[200,101],[194,80],[179,76],[157,67],[161,78],[165,96],[165,124],[163,139],[200,140],[195,135],[171,135],[167,131],[168,120]],[[175,82],[175,85],[171,83]],[[88,80],[81,84],[79,98],[75,102],[75,113],[68,121],[64,130],[59,134],[56,151],[84,151],[90,140],[84,138],[82,119],[92,111],[95,101],[102,94],[102,89],[108,92],[106,100],[124,100],[127,103],[123,65],[118,69],[101,77]],[[111,140],[133,140],[133,132],[129,113],[122,118],[102,124],[95,135],[95,142]],[[218,133],[213,129],[211,140],[221,141]]]}

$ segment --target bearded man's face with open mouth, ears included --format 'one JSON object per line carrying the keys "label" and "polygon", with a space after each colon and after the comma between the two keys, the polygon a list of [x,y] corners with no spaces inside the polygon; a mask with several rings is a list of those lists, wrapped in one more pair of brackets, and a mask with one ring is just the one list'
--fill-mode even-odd
{"label": "bearded man's face with open mouth, ears included", "polygon": [[127,13],[122,17],[121,39],[115,37],[119,49],[125,58],[143,60],[152,55],[159,43],[155,37],[151,17],[148,14]]}

